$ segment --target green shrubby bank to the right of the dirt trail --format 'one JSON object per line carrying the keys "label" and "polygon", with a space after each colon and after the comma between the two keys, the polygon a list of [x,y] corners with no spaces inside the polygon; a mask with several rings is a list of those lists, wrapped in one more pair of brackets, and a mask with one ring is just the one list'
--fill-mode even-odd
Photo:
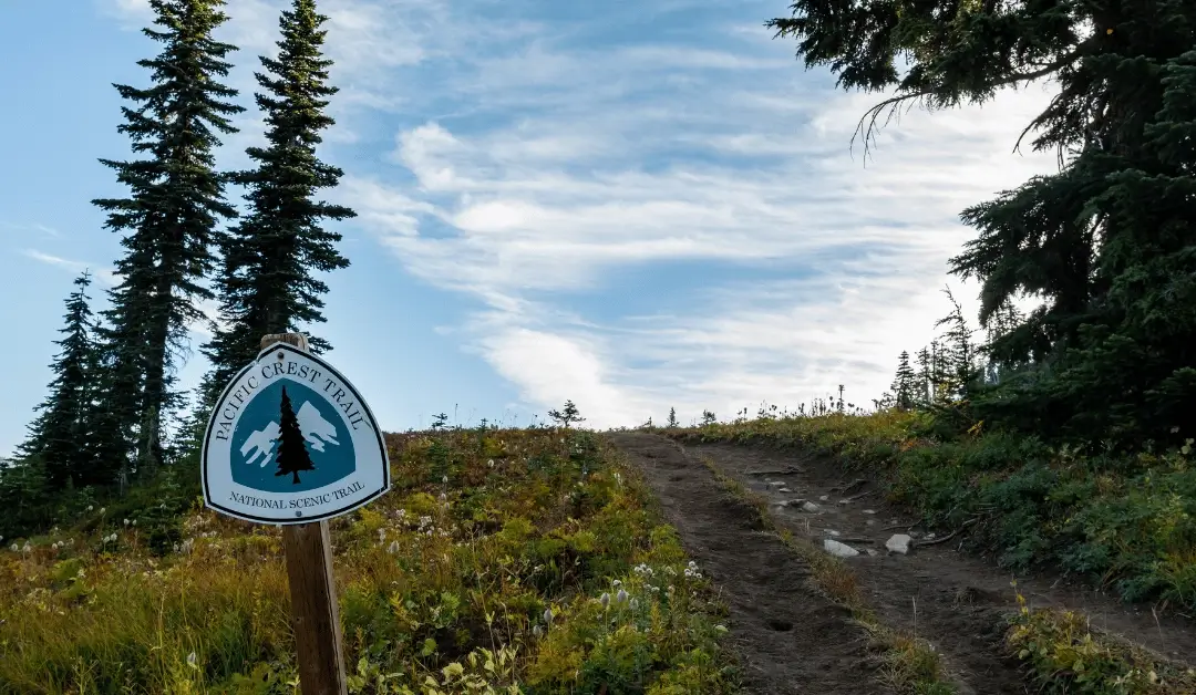
{"label": "green shrubby bank to the right of the dirt trail", "polygon": [[1048,566],[1129,600],[1196,609],[1196,469],[1191,446],[1081,455],[978,431],[942,440],[926,414],[774,416],[667,434],[691,441],[803,445],[868,469],[935,526],[966,525],[1009,566]]}

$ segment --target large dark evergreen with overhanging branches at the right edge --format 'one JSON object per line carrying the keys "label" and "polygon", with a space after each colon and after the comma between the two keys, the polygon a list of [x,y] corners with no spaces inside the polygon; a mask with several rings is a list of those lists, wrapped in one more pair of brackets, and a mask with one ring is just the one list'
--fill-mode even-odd
{"label": "large dark evergreen with overhanging branches at the right edge", "polygon": [[[799,39],[807,67],[831,66],[847,89],[897,87],[872,116],[1052,79],[1055,98],[1027,132],[1036,150],[1058,153],[1061,171],[965,211],[980,234],[952,261],[983,284],[983,325],[1015,294],[1044,300],[1024,329],[994,341],[1006,358],[1033,361],[1032,376],[977,402],[977,414],[1125,446],[1190,437],[1196,6],[797,0],[793,10],[770,25]],[[903,74],[899,56],[910,60]]]}

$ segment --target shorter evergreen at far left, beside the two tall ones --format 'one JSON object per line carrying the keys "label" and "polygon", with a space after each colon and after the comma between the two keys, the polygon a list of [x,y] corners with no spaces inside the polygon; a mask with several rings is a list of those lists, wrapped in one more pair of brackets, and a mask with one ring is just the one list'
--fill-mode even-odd
{"label": "shorter evergreen at far left, beside the two tall ones", "polygon": [[67,298],[62,340],[54,341],[61,352],[50,364],[54,379],[41,406],[41,415],[29,429],[22,453],[39,456],[44,462],[45,481],[51,489],[93,482],[90,478],[87,437],[91,429],[92,379],[96,377],[94,324],[87,304],[91,274],[84,272],[74,281],[75,291]]}

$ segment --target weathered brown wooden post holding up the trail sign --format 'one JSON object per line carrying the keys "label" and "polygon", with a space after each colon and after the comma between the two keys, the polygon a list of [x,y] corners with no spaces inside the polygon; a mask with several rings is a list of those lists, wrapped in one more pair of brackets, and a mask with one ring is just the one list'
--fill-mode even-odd
{"label": "weathered brown wooden post holding up the trail sign", "polygon": [[[267,335],[262,339],[262,349],[279,342],[307,352],[307,339],[299,333]],[[295,634],[303,695],[347,695],[328,522],[282,526],[282,548],[287,557],[291,626]]]}

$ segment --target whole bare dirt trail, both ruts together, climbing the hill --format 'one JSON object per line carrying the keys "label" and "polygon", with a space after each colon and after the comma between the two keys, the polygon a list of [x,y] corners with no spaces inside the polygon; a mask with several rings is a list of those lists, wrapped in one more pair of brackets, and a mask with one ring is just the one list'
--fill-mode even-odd
{"label": "whole bare dirt trail, both ruts together, climbing the hill", "polygon": [[[1032,606],[1084,611],[1093,627],[1177,663],[1191,665],[1196,657],[1196,629],[1190,621],[1159,616],[1149,606],[1130,606],[1057,577],[1014,577],[991,560],[962,553],[958,537],[920,532],[908,513],[884,502],[873,481],[844,474],[832,459],[761,446],[681,446],[643,433],[618,433],[611,439],[642,467],[687,550],[700,563],[704,554],[712,577],[731,598],[732,630],[738,633],[744,659],[762,678],[749,685],[752,693],[881,690],[874,678],[859,671],[867,660],[859,627],[806,587],[805,568],[777,539],[749,530],[746,512],[721,494],[702,457],[767,496],[777,520],[794,534],[816,543],[835,538],[859,550],[848,563],[872,608],[887,624],[916,633],[939,650],[962,693],[1037,691],[1002,648],[1003,618],[1017,610],[1013,579]],[[818,510],[810,513],[788,504],[795,499],[812,501]],[[914,536],[909,554],[885,549],[893,534]],[[781,554],[791,559],[774,559]],[[800,616],[794,630],[779,635],[767,629],[775,616],[791,621],[794,614]],[[818,616],[825,636],[810,632],[814,627],[810,615]],[[832,616],[840,624],[834,626]]]}

